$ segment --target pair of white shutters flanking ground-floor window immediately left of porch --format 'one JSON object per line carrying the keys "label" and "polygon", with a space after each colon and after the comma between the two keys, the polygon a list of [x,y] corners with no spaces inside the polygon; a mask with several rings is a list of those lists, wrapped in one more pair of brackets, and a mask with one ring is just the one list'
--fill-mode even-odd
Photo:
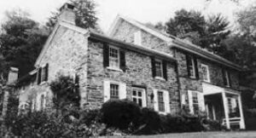
{"label": "pair of white shutters flanking ground-floor window immediately left of porch", "polygon": [[192,93],[196,93],[196,95],[197,95],[199,111],[204,112],[206,110],[204,95],[199,91],[188,90],[190,113],[195,114],[195,112],[194,112],[194,103],[193,103],[193,94]]}

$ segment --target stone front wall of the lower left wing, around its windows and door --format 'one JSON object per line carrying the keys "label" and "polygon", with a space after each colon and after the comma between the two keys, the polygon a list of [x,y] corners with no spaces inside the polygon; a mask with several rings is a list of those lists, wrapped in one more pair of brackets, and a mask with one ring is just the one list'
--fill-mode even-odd
{"label": "stone front wall of the lower left wing, around its windows and door", "polygon": [[125,49],[126,71],[113,71],[103,66],[103,44],[89,42],[88,59],[88,102],[91,106],[101,106],[103,103],[103,81],[111,80],[126,83],[127,98],[131,100],[133,85],[146,89],[147,106],[153,108],[154,102],[149,95],[153,89],[164,89],[169,92],[171,112],[180,109],[177,75],[174,63],[167,64],[167,81],[152,77],[151,59],[148,55],[139,54]]}

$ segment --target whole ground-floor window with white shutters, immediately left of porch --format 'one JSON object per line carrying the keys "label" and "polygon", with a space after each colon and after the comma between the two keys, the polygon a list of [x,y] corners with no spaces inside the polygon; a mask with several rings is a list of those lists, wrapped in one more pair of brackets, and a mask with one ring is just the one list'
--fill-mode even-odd
{"label": "whole ground-floor window with white shutters, immediately left of porch", "polygon": [[198,114],[205,111],[204,95],[198,91],[188,90],[189,110],[192,114]]}

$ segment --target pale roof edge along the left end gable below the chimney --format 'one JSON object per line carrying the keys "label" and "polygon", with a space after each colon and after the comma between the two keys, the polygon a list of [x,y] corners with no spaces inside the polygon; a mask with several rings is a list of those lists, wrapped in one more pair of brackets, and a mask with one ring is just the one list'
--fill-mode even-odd
{"label": "pale roof edge along the left end gable below the chimney", "polygon": [[80,32],[82,34],[86,34],[88,33],[89,31],[84,29],[84,28],[81,28],[79,26],[75,26],[73,24],[70,24],[70,23],[67,23],[63,20],[61,21],[58,21],[53,29],[53,31],[51,32],[51,34],[49,35],[46,43],[44,44],[44,47],[40,53],[40,55],[38,56],[38,59],[36,60],[36,63],[35,63],[35,67],[38,66],[38,64],[40,63],[40,61],[42,60],[44,54],[46,53],[47,49],[49,48],[49,44],[51,43],[52,39],[55,37],[55,34],[57,32],[57,30],[59,29],[60,26],[64,26],[64,27],[67,27],[73,31],[76,31],[76,32]]}

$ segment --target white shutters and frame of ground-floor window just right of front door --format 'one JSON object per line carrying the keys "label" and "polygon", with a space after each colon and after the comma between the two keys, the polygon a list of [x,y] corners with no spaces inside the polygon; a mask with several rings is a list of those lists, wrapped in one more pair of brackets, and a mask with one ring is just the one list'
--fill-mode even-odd
{"label": "white shutters and frame of ground-floor window just right of front door", "polygon": [[[154,111],[159,112],[160,114],[167,114],[171,113],[171,106],[170,106],[170,95],[167,90],[162,89],[154,89]],[[158,105],[158,92],[163,92],[164,102],[165,102],[165,112],[159,111]]]}

